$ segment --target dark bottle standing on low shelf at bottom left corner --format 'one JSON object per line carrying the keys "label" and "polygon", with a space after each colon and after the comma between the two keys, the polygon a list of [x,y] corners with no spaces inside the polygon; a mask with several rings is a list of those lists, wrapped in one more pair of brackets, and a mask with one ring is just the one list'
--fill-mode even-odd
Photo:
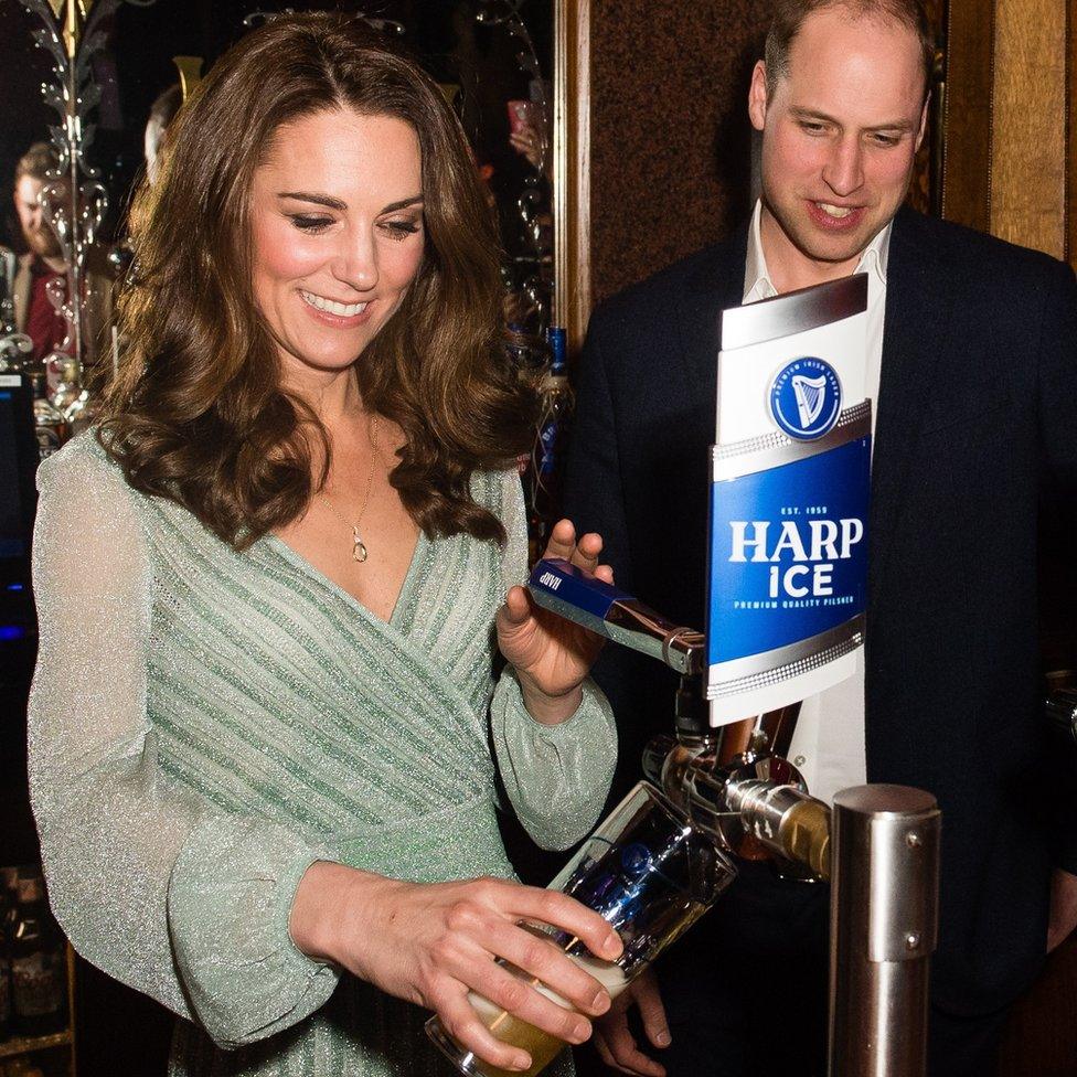
{"label": "dark bottle standing on low shelf at bottom left corner", "polygon": [[20,1036],[44,1036],[66,1022],[64,937],[49,910],[40,870],[20,868],[17,897],[10,941],[13,1026]]}

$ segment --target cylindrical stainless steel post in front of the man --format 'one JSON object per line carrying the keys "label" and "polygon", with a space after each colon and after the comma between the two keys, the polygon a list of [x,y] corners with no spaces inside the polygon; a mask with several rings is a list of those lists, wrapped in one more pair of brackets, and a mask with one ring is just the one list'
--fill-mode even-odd
{"label": "cylindrical stainless steel post in front of the man", "polygon": [[857,786],[834,798],[830,1077],[923,1077],[938,936],[935,798]]}

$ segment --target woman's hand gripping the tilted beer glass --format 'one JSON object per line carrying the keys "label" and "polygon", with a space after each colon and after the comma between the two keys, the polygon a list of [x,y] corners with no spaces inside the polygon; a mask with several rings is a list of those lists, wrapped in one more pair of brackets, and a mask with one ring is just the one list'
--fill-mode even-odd
{"label": "woman's hand gripping the tilted beer glass", "polygon": [[[620,939],[597,913],[556,891],[498,878],[405,883],[323,861],[299,884],[290,930],[305,953],[435,1010],[454,1039],[491,1065],[526,1069],[527,1053],[486,1028],[468,991],[568,1043],[590,1035],[585,1015],[605,1013],[610,1000],[597,980],[521,920],[568,931],[605,960],[621,952]],[[580,1012],[551,1002],[495,958],[541,980]]]}

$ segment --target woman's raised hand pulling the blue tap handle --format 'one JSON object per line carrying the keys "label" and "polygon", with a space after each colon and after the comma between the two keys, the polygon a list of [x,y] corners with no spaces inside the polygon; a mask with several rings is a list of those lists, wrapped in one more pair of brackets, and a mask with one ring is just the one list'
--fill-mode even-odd
{"label": "woman's raised hand pulling the blue tap handle", "polygon": [[[561,520],[543,557],[564,557],[611,584],[612,568],[598,564],[601,552],[600,535],[586,534],[577,542],[572,521]],[[498,646],[515,667],[532,717],[544,725],[571,717],[579,706],[580,684],[601,649],[601,637],[536,606],[523,587],[509,589],[497,625]]]}

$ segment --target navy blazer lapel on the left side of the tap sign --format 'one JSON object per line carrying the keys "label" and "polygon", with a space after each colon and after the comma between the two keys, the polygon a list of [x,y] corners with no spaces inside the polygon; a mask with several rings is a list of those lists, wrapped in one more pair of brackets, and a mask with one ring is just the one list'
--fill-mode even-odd
{"label": "navy blazer lapel on the left side of the tap sign", "polygon": [[744,265],[747,257],[747,223],[726,243],[710,248],[678,295],[678,349],[687,384],[696,399],[714,412],[717,392],[718,348],[722,311],[739,307],[744,298]]}

